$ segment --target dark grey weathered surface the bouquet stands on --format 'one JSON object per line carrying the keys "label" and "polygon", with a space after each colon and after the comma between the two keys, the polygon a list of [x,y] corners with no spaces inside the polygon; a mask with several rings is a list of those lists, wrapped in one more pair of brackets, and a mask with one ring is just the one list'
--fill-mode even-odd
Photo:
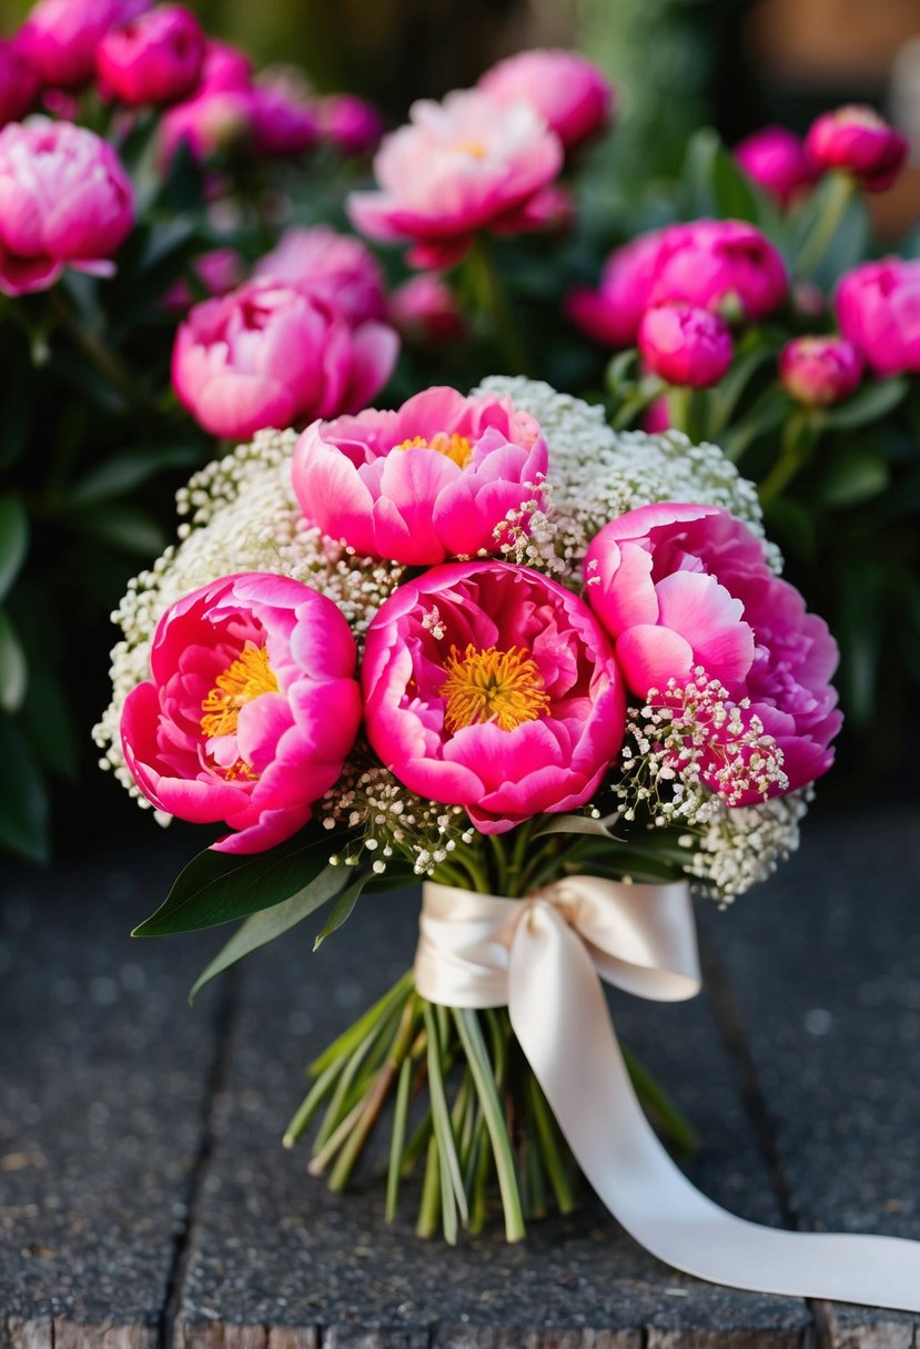
{"label": "dark grey weathered surface the bouquet stands on", "polygon": [[[585,1197],[451,1251],[371,1175],[330,1195],[281,1133],[304,1064],[411,958],[417,900],[372,897],[185,993],[223,932],[132,942],[182,840],[5,869],[0,1349],[913,1349],[920,1319],[716,1288]],[[615,998],[692,1117],[693,1180],[735,1213],[920,1238],[920,828],[816,819],[734,911],[700,904],[707,996]],[[411,1198],[411,1195],[409,1197]]]}

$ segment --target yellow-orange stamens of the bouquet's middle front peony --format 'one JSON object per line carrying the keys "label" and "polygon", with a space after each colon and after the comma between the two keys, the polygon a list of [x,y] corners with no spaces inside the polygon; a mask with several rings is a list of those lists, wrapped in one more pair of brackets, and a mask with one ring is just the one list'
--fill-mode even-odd
{"label": "yellow-orange stamens of the bouquet's middle front peony", "polygon": [[483,722],[514,731],[522,722],[536,722],[549,711],[537,662],[519,646],[507,652],[472,642],[465,652],[452,646],[444,673],[438,695],[445,703],[444,724],[452,734],[461,726]]}

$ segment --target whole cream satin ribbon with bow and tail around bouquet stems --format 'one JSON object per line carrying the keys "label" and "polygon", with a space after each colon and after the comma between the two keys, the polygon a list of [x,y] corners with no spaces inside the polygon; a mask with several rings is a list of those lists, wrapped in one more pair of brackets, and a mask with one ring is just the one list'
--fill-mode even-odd
{"label": "whole cream satin ribbon with bow and tail around bouquet stems", "polygon": [[688,888],[572,877],[526,900],[422,888],[418,992],[447,1006],[507,1005],[581,1171],[641,1245],[749,1292],[920,1311],[920,1242],[762,1228],[691,1184],[635,1098],[598,975],[657,1001],[693,997]]}

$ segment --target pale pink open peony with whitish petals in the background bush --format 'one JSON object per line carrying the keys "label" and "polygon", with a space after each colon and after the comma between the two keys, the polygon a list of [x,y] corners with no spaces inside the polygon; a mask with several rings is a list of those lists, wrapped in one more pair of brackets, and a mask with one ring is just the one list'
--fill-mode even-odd
{"label": "pale pink open peony with whitish petals in the background bush", "polygon": [[531,107],[463,89],[414,103],[410,117],[374,159],[380,190],[348,198],[363,233],[410,243],[414,266],[438,267],[459,262],[478,229],[533,228],[522,213],[561,169],[563,146]]}

